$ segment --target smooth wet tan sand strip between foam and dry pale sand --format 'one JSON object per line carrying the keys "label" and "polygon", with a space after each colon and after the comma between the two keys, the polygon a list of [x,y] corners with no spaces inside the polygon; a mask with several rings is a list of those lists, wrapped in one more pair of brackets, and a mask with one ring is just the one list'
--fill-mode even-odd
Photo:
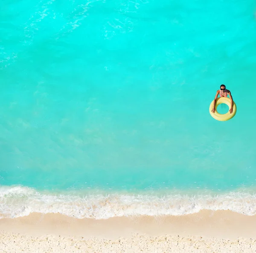
{"label": "smooth wet tan sand strip between foam and dry pale sand", "polygon": [[[61,235],[118,239],[134,233],[147,236],[205,236],[219,239],[255,238],[256,216],[230,210],[202,210],[182,216],[129,216],[77,219],[60,213],[31,213],[0,219],[0,232],[27,236]],[[111,233],[109,228],[111,227]]]}

